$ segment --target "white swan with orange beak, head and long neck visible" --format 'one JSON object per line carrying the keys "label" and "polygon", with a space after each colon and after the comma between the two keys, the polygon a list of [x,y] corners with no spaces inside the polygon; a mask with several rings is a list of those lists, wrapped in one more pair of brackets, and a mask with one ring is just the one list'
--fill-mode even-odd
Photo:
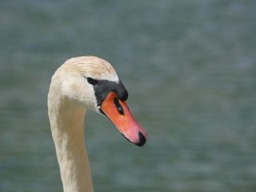
{"label": "white swan with orange beak, head and long neck visible", "polygon": [[128,141],[145,144],[146,131],[130,113],[127,98],[114,67],[102,58],[70,58],[54,73],[48,116],[65,192],[94,191],[83,128],[86,110],[109,118]]}

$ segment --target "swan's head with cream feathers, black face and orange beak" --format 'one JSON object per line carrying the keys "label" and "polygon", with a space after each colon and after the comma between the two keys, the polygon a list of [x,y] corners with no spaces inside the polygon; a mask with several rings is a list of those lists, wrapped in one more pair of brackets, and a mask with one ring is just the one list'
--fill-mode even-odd
{"label": "swan's head with cream feathers, black face and orange beak", "polygon": [[66,99],[105,115],[130,142],[146,143],[146,131],[130,113],[128,92],[109,62],[94,56],[70,58],[58,69],[58,76],[59,91]]}

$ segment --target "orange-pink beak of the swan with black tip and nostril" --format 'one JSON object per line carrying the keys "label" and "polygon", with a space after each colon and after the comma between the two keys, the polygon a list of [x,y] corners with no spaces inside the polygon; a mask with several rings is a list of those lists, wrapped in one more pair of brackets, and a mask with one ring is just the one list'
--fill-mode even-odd
{"label": "orange-pink beak of the swan with black tip and nostril", "polygon": [[126,102],[118,99],[113,91],[107,94],[100,107],[106,117],[128,141],[137,146],[143,146],[146,143],[146,131],[135,121]]}

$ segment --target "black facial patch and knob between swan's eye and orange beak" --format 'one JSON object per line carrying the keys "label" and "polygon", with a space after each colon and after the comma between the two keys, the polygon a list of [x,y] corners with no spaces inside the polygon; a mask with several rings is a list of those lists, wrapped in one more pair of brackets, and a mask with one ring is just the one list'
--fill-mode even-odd
{"label": "black facial patch and knob between swan's eye and orange beak", "polygon": [[[87,78],[87,81],[88,81],[88,78]],[[108,80],[94,80],[94,81],[96,81],[96,83],[94,84],[90,82],[89,83],[94,86],[94,92],[97,98],[98,106],[102,104],[104,98],[106,98],[106,95],[109,94],[111,91],[117,94],[118,99],[120,99],[122,102],[126,101],[126,99],[128,98],[128,92],[125,86],[122,85],[121,81],[119,82],[110,82]]]}

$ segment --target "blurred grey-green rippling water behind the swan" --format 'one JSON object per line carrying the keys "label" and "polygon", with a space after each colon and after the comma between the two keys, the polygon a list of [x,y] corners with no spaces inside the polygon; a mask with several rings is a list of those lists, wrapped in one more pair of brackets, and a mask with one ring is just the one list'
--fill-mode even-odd
{"label": "blurred grey-green rippling water behind the swan", "polygon": [[0,7],[0,191],[62,191],[46,115],[67,58],[111,62],[149,140],[86,116],[95,191],[256,190],[256,2],[14,1]]}

